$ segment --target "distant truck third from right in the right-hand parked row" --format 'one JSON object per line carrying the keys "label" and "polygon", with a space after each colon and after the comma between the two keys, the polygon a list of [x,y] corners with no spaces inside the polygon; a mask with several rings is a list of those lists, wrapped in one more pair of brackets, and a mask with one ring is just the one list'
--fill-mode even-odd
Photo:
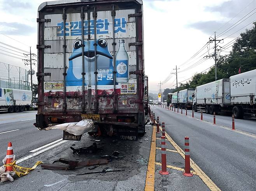
{"label": "distant truck third from right in the right-hand parked row", "polygon": [[195,89],[183,89],[179,91],[179,102],[178,105],[180,108],[191,109],[193,106],[193,93]]}

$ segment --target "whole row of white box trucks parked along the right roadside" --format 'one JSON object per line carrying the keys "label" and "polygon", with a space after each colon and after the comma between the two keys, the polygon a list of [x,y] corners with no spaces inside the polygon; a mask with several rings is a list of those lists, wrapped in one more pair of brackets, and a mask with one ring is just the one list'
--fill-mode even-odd
{"label": "whole row of white box trucks parked along the right roadside", "polygon": [[172,93],[174,107],[232,113],[236,119],[256,117],[256,70]]}

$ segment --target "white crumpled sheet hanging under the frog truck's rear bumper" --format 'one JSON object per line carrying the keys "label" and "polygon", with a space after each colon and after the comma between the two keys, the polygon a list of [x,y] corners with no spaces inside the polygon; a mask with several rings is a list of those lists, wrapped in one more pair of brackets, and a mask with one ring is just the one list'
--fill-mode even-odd
{"label": "white crumpled sheet hanging under the frog truck's rear bumper", "polygon": [[47,127],[45,130],[61,129],[74,135],[82,135],[86,132],[92,131],[93,127],[94,127],[93,120],[83,119],[79,122],[63,123],[63,124],[58,124],[56,126]]}

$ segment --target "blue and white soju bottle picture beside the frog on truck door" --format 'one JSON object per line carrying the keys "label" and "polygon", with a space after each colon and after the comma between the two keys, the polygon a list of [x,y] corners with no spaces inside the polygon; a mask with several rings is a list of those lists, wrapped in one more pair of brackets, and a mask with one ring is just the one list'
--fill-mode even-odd
{"label": "blue and white soju bottle picture beside the frog on truck door", "polygon": [[119,47],[116,52],[116,82],[127,83],[129,81],[128,54],[124,47],[124,39],[118,40]]}

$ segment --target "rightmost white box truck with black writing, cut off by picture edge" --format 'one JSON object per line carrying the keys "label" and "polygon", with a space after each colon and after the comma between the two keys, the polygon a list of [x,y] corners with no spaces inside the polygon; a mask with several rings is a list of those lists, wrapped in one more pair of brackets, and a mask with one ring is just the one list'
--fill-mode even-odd
{"label": "rightmost white box truck with black writing, cut off by picture edge", "polygon": [[230,103],[235,118],[256,115],[256,70],[230,77]]}

